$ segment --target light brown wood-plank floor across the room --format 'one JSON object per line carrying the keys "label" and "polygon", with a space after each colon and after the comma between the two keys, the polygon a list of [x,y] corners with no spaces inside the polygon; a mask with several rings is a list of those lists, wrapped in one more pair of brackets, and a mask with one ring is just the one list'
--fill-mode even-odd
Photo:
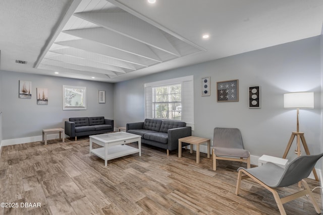
{"label": "light brown wood-plank floor across the room", "polygon": [[[136,146],[134,144],[134,146]],[[184,150],[142,146],[138,154],[108,161],[89,156],[88,137],[6,146],[0,157],[0,214],[279,214],[273,195],[244,180],[235,195],[239,162],[212,160]],[[311,188],[319,186],[306,179]],[[281,188],[285,195],[300,188]],[[320,190],[314,196],[321,208]],[[40,207],[21,207],[21,203]],[[306,197],[284,204],[287,214],[316,214]]]}

